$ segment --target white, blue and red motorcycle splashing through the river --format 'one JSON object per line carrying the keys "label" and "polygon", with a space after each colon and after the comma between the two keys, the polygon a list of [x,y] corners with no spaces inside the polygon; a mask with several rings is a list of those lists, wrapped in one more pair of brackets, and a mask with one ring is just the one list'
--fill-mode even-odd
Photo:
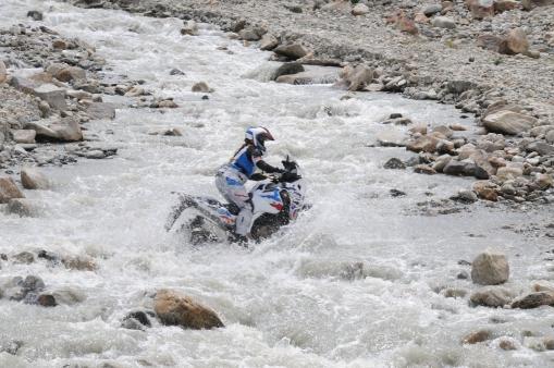
{"label": "white, blue and red motorcycle splashing through the river", "polygon": [[[270,237],[308,208],[298,164],[288,157],[282,163],[282,174],[262,175],[262,180],[249,191],[253,206],[250,236],[256,242]],[[239,208],[234,204],[180,194],[180,203],[171,212],[165,230],[187,233],[193,245],[225,240],[233,242],[238,238],[234,232],[238,212]]]}

